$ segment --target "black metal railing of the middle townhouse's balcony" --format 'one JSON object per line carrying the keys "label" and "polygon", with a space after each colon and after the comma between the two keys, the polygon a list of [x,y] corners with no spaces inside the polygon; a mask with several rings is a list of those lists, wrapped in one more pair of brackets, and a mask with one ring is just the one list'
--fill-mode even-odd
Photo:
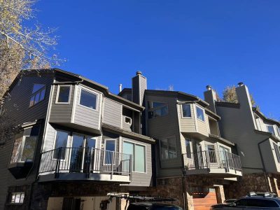
{"label": "black metal railing of the middle townhouse's balcony", "polygon": [[185,169],[229,169],[242,170],[241,160],[238,155],[227,151],[201,151],[183,154]]}

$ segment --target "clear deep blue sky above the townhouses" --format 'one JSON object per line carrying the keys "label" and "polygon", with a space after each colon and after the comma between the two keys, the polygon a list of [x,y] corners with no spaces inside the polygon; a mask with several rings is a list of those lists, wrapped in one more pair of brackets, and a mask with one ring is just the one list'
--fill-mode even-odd
{"label": "clear deep blue sky above the townhouses", "polygon": [[59,66],[118,93],[140,70],[148,89],[203,98],[244,82],[280,119],[280,1],[40,0],[38,22],[57,27]]}

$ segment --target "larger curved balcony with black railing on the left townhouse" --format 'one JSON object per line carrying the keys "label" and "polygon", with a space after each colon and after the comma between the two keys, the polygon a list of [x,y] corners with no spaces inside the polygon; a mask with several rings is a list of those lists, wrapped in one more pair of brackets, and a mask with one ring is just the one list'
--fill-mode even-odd
{"label": "larger curved balcony with black railing on the left townhouse", "polygon": [[57,148],[41,153],[39,181],[130,183],[132,155],[97,148]]}

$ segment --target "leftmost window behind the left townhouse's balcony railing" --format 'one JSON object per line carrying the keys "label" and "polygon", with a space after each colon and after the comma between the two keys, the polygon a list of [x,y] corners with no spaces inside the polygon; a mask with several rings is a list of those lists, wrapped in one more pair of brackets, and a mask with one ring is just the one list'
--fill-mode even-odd
{"label": "leftmost window behind the left townhouse's balcony railing", "polygon": [[62,160],[65,159],[65,149],[62,149],[59,157],[59,150],[58,148],[66,148],[68,140],[68,132],[57,130],[55,136],[55,151],[53,152],[53,158],[60,158]]}

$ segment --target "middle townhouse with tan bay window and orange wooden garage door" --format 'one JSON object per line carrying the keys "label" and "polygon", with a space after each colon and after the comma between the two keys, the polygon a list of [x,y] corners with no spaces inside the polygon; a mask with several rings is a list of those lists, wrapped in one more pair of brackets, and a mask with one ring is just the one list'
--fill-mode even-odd
{"label": "middle townhouse with tan bay window and orange wooden garage door", "polygon": [[[135,81],[140,86],[134,85]],[[192,94],[165,90],[145,90],[147,81],[141,72],[132,78],[132,88],[119,93],[139,100],[143,133],[156,139],[156,186],[151,195],[174,197],[186,209],[209,209],[225,200],[223,187],[242,175],[235,144],[221,135],[221,116],[211,104]],[[138,96],[137,96],[138,97]]]}

